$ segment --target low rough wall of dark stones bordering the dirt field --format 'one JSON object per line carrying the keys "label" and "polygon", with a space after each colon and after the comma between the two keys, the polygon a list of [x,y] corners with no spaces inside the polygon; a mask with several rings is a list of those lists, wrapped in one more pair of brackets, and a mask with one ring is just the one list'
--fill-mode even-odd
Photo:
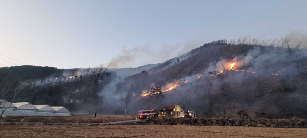
{"label": "low rough wall of dark stones bordering the dirt field", "polygon": [[200,125],[200,126],[246,126],[246,127],[278,127],[278,128],[307,128],[303,119],[220,119],[220,118],[154,118],[131,124],[156,125]]}

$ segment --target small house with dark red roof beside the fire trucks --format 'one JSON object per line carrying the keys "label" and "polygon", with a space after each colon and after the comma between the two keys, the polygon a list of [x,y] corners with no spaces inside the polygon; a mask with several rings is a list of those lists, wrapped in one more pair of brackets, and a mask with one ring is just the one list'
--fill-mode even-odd
{"label": "small house with dark red roof beside the fire trucks", "polygon": [[180,111],[183,111],[181,106],[178,103],[170,104],[170,105],[163,105],[159,110],[159,117],[180,117]]}

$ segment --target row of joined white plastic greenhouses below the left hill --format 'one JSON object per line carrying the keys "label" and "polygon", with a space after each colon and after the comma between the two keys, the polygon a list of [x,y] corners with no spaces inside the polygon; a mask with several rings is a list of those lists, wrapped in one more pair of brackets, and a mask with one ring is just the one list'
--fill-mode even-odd
{"label": "row of joined white plastic greenhouses below the left hill", "polygon": [[[0,108],[6,116],[70,116],[70,112],[65,107],[51,107],[49,105],[32,105],[29,102],[10,103],[0,100]],[[2,113],[0,110],[0,113]]]}

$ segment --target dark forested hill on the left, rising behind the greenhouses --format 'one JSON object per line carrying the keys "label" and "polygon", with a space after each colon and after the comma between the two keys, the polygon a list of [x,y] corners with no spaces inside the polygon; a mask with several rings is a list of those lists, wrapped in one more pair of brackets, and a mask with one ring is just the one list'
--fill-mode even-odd
{"label": "dark forested hill on the left, rising behind the greenhouses", "polygon": [[57,69],[28,65],[2,67],[0,76],[0,99],[11,101],[15,89],[23,86],[14,102],[65,106],[72,112],[84,113],[99,111],[102,97],[98,92],[117,78],[116,73],[106,68]]}

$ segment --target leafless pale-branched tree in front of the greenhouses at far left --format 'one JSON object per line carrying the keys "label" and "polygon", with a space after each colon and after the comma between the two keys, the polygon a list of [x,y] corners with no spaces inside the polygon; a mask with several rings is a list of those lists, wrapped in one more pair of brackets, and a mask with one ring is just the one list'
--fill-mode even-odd
{"label": "leafless pale-branched tree in front of the greenhouses at far left", "polygon": [[7,110],[7,109],[9,109],[10,108],[10,106],[12,105],[12,103],[14,102],[14,99],[15,99],[15,97],[16,97],[16,95],[22,90],[22,89],[24,89],[25,88],[25,82],[21,82],[20,80],[19,80],[19,84],[16,86],[16,88],[15,88],[15,90],[14,90],[14,96],[13,96],[13,98],[12,98],[12,100],[11,100],[11,104],[9,105],[9,106],[7,106],[7,107],[4,107],[3,106],[3,108],[4,109],[2,109],[2,107],[1,107],[1,103],[2,102],[4,102],[4,96],[6,96],[6,94],[8,94],[8,92],[10,92],[10,90],[11,90],[11,87],[13,86],[13,85],[11,85],[10,84],[10,81],[5,81],[3,84],[0,84],[1,86],[1,91],[0,91],[0,109],[1,109],[1,111],[2,111],[2,113],[1,113],[1,116],[4,114],[4,112]]}

